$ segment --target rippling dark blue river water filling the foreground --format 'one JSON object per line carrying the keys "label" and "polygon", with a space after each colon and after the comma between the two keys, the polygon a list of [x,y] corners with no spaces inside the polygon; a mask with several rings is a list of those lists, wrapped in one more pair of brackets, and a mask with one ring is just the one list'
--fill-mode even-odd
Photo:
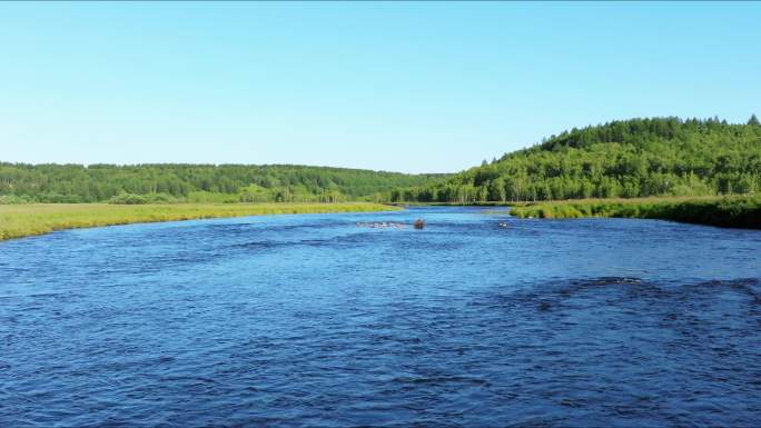
{"label": "rippling dark blue river water filling the foreground", "polygon": [[758,427],[760,250],[473,208],[7,241],[0,427]]}

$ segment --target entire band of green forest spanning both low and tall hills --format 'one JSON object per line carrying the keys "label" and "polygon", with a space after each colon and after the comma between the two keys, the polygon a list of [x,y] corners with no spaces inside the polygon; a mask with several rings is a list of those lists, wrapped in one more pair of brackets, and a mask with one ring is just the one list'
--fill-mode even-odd
{"label": "entire band of green forest spanning both low and tall hills", "polygon": [[288,165],[26,165],[0,162],[0,203],[472,203],[761,192],[761,123],[718,118],[612,121],[457,175]]}

